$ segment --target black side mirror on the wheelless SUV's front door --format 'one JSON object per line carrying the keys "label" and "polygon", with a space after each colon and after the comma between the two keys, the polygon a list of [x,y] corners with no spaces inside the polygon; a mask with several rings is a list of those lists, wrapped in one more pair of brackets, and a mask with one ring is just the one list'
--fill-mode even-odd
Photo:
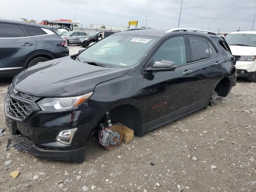
{"label": "black side mirror on the wheelless SUV's front door", "polygon": [[156,60],[152,67],[147,67],[147,72],[174,71],[176,64],[172,61]]}

